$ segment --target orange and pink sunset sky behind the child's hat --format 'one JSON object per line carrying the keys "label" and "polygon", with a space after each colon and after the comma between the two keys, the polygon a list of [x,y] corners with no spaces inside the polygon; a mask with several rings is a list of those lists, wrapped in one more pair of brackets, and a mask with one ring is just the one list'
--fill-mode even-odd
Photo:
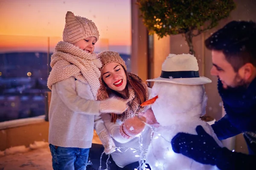
{"label": "orange and pink sunset sky behind the child's hat", "polygon": [[0,0],[0,52],[47,49],[47,37],[53,49],[62,38],[67,11],[96,24],[96,50],[130,53],[130,0]]}

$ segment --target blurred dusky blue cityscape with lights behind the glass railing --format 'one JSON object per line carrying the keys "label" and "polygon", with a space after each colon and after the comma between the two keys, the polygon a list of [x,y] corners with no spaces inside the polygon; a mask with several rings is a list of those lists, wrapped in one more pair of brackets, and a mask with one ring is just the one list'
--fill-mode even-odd
{"label": "blurred dusky blue cityscape with lights behind the glass railing", "polygon": [[[51,55],[38,51],[0,52],[0,122],[47,113],[47,63]],[[130,71],[130,55],[120,56]]]}

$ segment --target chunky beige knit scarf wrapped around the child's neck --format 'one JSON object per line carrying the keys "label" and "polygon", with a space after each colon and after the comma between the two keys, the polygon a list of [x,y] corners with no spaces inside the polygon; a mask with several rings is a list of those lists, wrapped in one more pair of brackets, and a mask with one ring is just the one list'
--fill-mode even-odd
{"label": "chunky beige knit scarf wrapped around the child's neck", "polygon": [[96,99],[100,87],[99,77],[102,64],[96,54],[90,54],[68,42],[58,42],[51,57],[52,71],[48,77],[47,86],[52,85],[71,76],[88,84]]}

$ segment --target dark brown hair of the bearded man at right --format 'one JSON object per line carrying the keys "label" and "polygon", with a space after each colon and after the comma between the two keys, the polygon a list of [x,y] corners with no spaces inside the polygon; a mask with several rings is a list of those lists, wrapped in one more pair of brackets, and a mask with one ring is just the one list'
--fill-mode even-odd
{"label": "dark brown hair of the bearded man at right", "polygon": [[205,46],[209,50],[222,51],[237,72],[246,63],[256,67],[255,42],[255,22],[231,21],[205,40]]}

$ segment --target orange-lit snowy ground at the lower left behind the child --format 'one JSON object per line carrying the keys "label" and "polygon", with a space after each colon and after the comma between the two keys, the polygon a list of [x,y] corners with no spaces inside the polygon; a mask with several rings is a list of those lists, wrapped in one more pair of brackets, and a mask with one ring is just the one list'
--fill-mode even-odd
{"label": "orange-lit snowy ground at the lower left behind the child", "polygon": [[[102,144],[95,131],[93,143]],[[29,147],[17,146],[0,151],[0,170],[52,170],[49,143],[35,141]]]}

